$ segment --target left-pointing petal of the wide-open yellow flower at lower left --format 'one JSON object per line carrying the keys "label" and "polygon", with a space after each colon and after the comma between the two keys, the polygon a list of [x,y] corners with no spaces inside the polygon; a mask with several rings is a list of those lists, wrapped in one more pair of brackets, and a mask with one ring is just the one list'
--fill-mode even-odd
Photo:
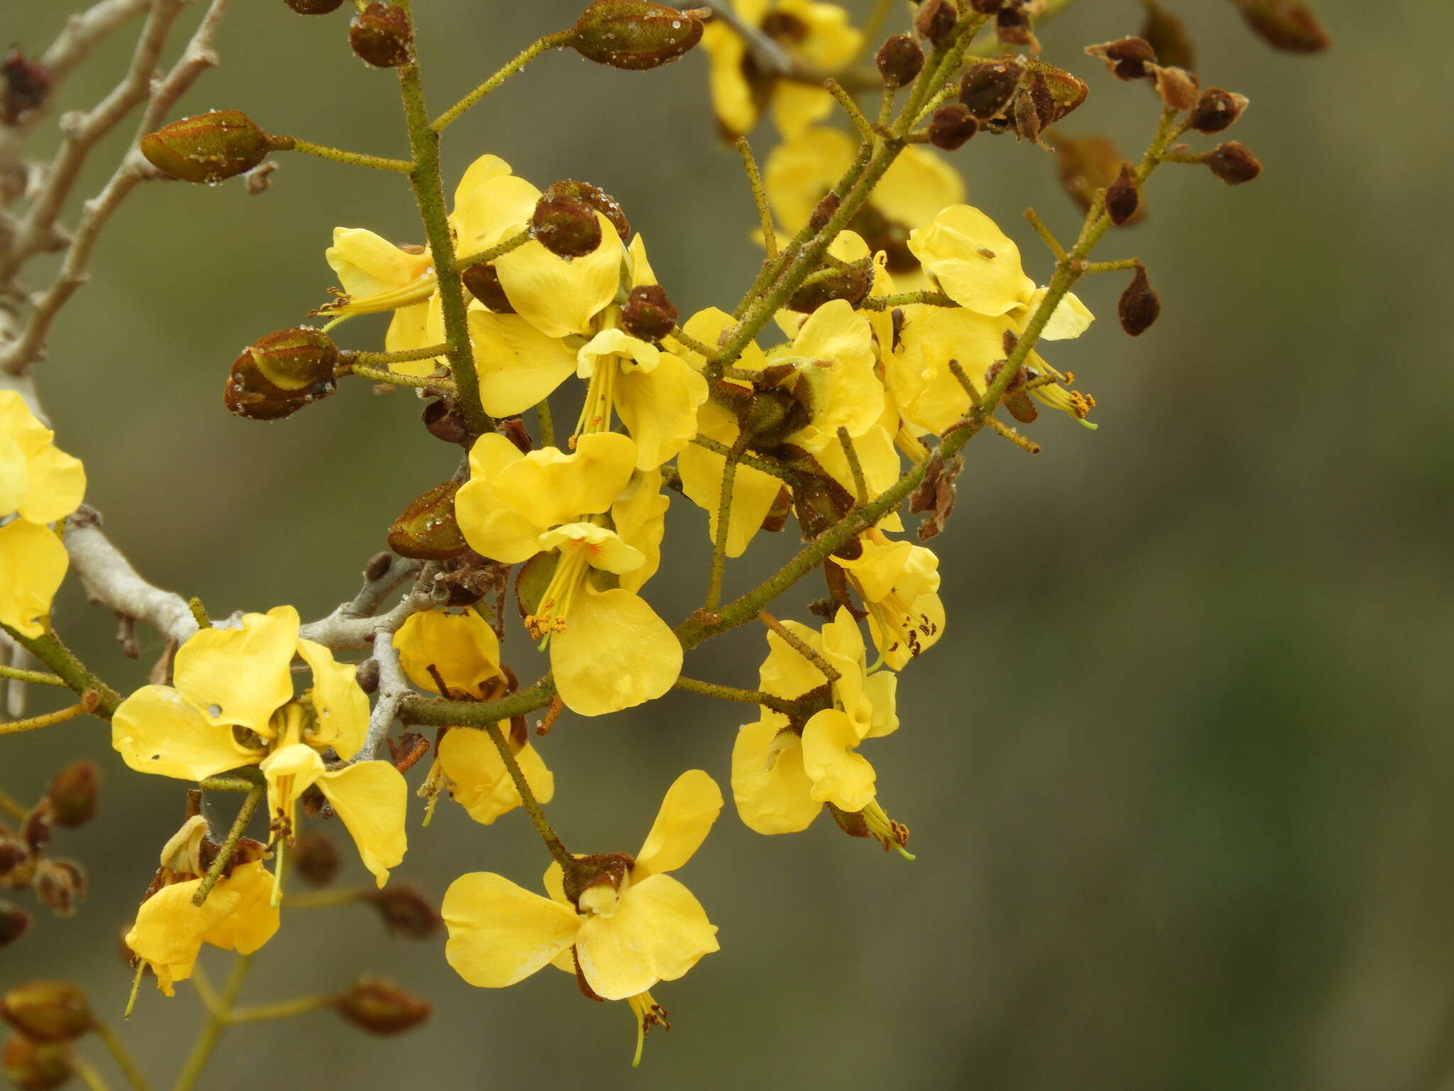
{"label": "left-pointing petal of the wide-open yellow flower at lower left", "polygon": [[111,717],[111,745],[137,772],[205,780],[238,765],[256,765],[233,729],[206,722],[202,711],[170,685],[144,685]]}

